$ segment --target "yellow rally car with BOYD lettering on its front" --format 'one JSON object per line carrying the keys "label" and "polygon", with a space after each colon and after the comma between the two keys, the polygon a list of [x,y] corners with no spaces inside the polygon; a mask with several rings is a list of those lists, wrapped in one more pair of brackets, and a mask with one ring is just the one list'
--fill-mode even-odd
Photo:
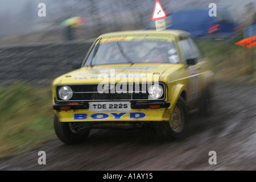
{"label": "yellow rally car with BOYD lettering on its front", "polygon": [[55,132],[67,144],[112,127],[149,126],[180,138],[188,110],[208,111],[214,73],[188,32],[104,34],[73,67],[52,83]]}

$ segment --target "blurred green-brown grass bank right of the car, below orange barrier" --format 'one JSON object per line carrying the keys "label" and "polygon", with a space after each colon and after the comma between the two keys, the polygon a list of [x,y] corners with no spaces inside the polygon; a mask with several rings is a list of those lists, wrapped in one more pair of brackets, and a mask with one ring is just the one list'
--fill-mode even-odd
{"label": "blurred green-brown grass bank right of the car, below orange barrier", "polygon": [[231,85],[255,85],[256,47],[251,49],[224,42],[200,42],[201,52],[212,62],[215,81]]}

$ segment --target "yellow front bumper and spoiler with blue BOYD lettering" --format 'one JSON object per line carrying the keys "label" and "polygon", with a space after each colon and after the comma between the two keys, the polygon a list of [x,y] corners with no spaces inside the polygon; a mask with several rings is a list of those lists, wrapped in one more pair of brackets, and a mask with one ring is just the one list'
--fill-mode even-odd
{"label": "yellow front bumper and spoiler with blue BOYD lettering", "polygon": [[163,121],[170,102],[131,102],[130,111],[90,111],[88,103],[54,104],[60,122]]}

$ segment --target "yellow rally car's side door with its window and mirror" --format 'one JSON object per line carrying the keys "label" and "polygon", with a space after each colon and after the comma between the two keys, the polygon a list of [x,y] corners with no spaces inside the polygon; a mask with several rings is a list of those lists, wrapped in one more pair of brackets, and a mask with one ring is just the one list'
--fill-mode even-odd
{"label": "yellow rally car's side door with its window and mirror", "polygon": [[200,96],[201,66],[199,64],[201,56],[199,49],[193,40],[189,37],[180,37],[184,64],[187,65],[185,71],[188,75],[187,102],[196,102]]}

